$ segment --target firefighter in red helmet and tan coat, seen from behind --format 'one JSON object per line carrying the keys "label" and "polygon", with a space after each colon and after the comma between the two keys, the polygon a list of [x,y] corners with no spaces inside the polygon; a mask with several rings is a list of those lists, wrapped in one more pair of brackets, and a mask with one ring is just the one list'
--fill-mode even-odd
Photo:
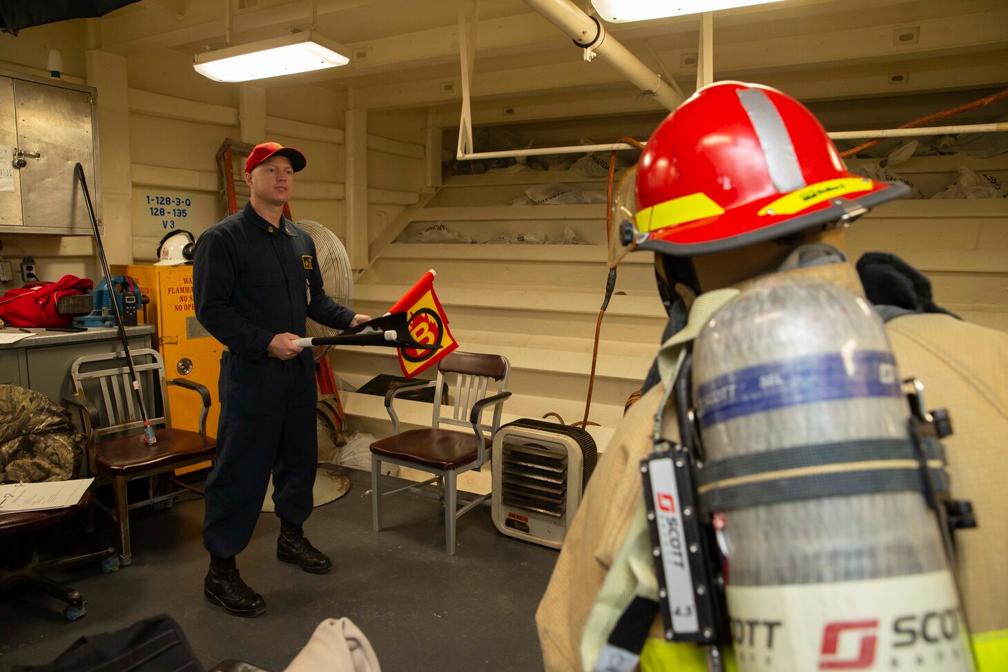
{"label": "firefighter in red helmet and tan coat, seen from behind", "polygon": [[[938,309],[926,278],[898,258],[871,253],[855,267],[843,251],[848,224],[904,192],[902,185],[849,174],[811,113],[767,87],[710,85],[654,131],[639,163],[617,189],[610,251],[612,260],[634,250],[654,253],[669,323],[644,394],[629,408],[600,460],[536,612],[547,671],[630,672],[639,665],[644,672],[709,666],[804,672],[816,669],[816,663],[817,669],[1008,669],[1008,581],[1003,580],[1008,557],[1008,335]],[[951,562],[944,551],[940,561],[954,568],[965,619],[953,607],[943,615],[911,611],[890,621],[831,623],[822,638],[815,633],[808,644],[814,658],[807,668],[788,664],[793,659],[780,649],[793,643],[793,630],[776,622],[757,632],[755,622],[726,619],[730,627],[722,641],[734,640],[738,659],[731,651],[719,658],[697,644],[674,637],[669,641],[657,606],[646,606],[658,602],[664,587],[659,587],[651,557],[641,471],[647,464],[642,460],[658,445],[655,436],[687,443],[695,433],[707,431],[703,421],[699,430],[680,425],[691,421],[680,421],[688,416],[677,413],[679,398],[671,394],[684,353],[705,328],[713,331],[711,316],[727,311],[731,302],[766,294],[766,288],[822,289],[823,284],[825,295],[853,295],[854,303],[848,305],[874,305],[874,310],[866,309],[871,313],[867,317],[891,345],[899,374],[918,378],[927,408],[947,409],[954,419],[954,433],[942,439],[948,459],[942,473],[955,496],[972,502],[977,527],[959,530]],[[894,287],[912,291],[897,293]],[[753,319],[780,318],[772,308]],[[831,326],[845,319],[839,313],[815,318]],[[698,370],[692,369],[695,374]],[[923,500],[920,491],[912,495]],[[931,510],[925,511],[933,522]],[[729,528],[731,517],[729,513]],[[904,524],[874,521],[880,539],[897,538]],[[829,532],[830,522],[826,525]],[[928,534],[937,538],[937,529],[928,527]],[[793,530],[795,537],[801,532]],[[724,541],[720,530],[717,538]],[[732,549],[719,546],[722,560],[731,564]],[[733,576],[723,572],[729,587]],[[878,585],[888,584],[882,580]],[[869,591],[866,609],[878,606],[889,613],[885,602],[885,590]],[[729,598],[729,618],[732,606]],[[938,641],[941,630],[934,629],[941,618],[948,642]],[[961,625],[968,625],[972,647],[959,641]],[[765,656],[753,655],[753,642],[764,647],[760,653]],[[911,657],[906,660],[906,655]]]}

